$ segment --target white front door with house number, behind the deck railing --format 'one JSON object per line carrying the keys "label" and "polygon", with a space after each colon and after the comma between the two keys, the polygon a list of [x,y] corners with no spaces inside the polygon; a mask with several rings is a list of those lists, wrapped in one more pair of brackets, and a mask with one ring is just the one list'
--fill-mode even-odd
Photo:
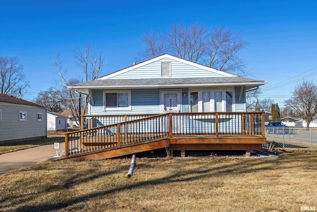
{"label": "white front door with house number, behind the deck railing", "polygon": [[[181,90],[161,90],[160,91],[160,112],[169,113],[181,112]],[[173,133],[181,133],[182,118],[174,116]]]}

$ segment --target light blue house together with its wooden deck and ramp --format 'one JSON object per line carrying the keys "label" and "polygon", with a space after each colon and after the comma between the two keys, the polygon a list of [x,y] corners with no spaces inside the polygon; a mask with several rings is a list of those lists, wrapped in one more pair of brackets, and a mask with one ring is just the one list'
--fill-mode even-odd
{"label": "light blue house together with its wooden deck and ramp", "polygon": [[246,112],[246,92],[266,83],[164,54],[68,86],[89,97],[83,126],[92,129],[66,135],[66,157],[93,151],[82,156],[104,159],[166,147],[181,156],[262,149],[263,112]]}

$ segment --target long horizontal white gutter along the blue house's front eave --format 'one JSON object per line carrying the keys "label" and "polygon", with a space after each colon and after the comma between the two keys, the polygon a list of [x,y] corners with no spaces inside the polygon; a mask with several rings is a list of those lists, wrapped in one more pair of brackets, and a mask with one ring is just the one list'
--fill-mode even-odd
{"label": "long horizontal white gutter along the blue house's front eave", "polygon": [[260,86],[267,84],[267,82],[235,82],[235,83],[204,83],[204,84],[155,84],[155,85],[120,85],[119,87],[117,86],[112,86],[112,85],[96,85],[96,86],[89,86],[89,87],[84,87],[84,86],[68,86],[69,89],[74,89],[77,91],[83,91],[85,89],[104,89],[104,88],[111,88],[111,89],[122,89],[122,88],[164,88],[164,87],[208,87],[208,86]]}

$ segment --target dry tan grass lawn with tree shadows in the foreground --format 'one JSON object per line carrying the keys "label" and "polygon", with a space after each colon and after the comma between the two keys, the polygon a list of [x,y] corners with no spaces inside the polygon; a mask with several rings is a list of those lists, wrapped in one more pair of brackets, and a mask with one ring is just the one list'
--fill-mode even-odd
{"label": "dry tan grass lawn with tree shadows in the foreground", "polygon": [[317,152],[276,159],[46,161],[0,175],[0,211],[285,212],[317,208]]}

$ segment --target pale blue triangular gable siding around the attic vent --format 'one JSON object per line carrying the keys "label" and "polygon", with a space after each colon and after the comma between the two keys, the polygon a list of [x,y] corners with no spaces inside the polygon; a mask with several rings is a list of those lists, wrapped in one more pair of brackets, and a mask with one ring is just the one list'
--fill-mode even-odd
{"label": "pale blue triangular gable siding around the attic vent", "polygon": [[171,62],[170,78],[184,77],[223,77],[219,73],[203,70],[168,58],[161,59],[151,64],[112,76],[109,79],[145,79],[145,78],[161,78],[161,62]]}

